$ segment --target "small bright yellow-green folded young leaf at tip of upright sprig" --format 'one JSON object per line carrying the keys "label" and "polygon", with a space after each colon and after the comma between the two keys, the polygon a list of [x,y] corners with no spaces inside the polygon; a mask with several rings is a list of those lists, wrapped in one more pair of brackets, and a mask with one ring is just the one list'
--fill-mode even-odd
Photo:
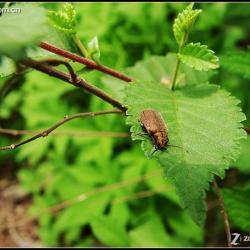
{"label": "small bright yellow-green folded young leaf at tip of upright sprig", "polygon": [[198,15],[202,10],[193,10],[193,3],[189,4],[186,9],[178,14],[177,18],[174,20],[173,31],[174,36],[181,47],[185,42],[185,37],[193,23],[195,22]]}

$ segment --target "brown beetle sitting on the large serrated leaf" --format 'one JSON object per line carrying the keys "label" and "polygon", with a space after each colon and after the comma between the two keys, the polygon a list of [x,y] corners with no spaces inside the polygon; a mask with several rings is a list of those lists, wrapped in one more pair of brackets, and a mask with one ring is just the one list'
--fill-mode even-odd
{"label": "brown beetle sitting on the large serrated leaf", "polygon": [[161,114],[153,109],[145,109],[140,114],[143,130],[152,139],[155,148],[164,150],[168,146],[168,130]]}

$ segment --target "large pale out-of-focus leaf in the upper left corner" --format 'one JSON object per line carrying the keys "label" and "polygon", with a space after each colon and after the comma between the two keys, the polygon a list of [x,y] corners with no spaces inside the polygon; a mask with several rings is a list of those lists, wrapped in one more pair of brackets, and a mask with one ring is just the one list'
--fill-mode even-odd
{"label": "large pale out-of-focus leaf in the upper left corner", "polygon": [[44,8],[36,5],[18,4],[15,7],[21,8],[21,13],[0,17],[0,54],[18,60],[47,33],[47,17]]}

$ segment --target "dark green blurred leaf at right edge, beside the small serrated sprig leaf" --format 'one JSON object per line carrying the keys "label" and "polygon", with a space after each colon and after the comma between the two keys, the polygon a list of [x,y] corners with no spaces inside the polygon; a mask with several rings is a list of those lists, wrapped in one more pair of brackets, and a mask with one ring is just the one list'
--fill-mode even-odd
{"label": "dark green blurred leaf at right edge, beside the small serrated sprig leaf", "polygon": [[250,79],[250,50],[227,53],[220,61],[222,68]]}

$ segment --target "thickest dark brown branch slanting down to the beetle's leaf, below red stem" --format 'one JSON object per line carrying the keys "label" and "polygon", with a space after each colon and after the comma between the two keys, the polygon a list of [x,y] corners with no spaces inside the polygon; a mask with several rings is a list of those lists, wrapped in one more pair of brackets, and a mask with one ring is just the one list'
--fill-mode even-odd
{"label": "thickest dark brown branch slanting down to the beetle's leaf, below red stem", "polygon": [[50,76],[56,77],[58,79],[61,79],[65,82],[68,82],[76,87],[83,88],[83,89],[87,90],[88,92],[98,96],[99,98],[101,98],[105,102],[108,102],[111,105],[113,105],[114,107],[120,109],[124,113],[127,110],[127,108],[123,107],[123,105],[119,101],[117,101],[116,99],[114,99],[112,96],[108,95],[107,93],[105,93],[101,89],[89,84],[84,79],[81,79],[78,77],[76,81],[72,81],[71,76],[69,74],[65,74],[64,72],[61,72],[57,69],[54,69],[54,68],[48,66],[47,64],[43,64],[43,63],[34,61],[32,59],[24,60],[21,63],[30,67],[30,68],[41,71],[47,75],[50,75]]}

